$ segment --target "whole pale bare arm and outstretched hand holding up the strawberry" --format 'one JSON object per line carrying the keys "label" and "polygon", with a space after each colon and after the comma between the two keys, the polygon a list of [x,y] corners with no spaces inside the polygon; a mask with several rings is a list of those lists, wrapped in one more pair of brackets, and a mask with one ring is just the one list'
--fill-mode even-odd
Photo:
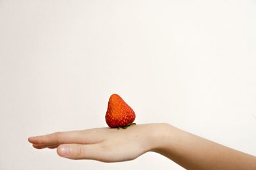
{"label": "whole pale bare arm and outstretched hand holding up the strawberry", "polygon": [[170,124],[95,128],[30,137],[34,148],[57,148],[61,157],[101,162],[133,160],[157,152],[186,169],[255,170],[256,157],[214,143]]}

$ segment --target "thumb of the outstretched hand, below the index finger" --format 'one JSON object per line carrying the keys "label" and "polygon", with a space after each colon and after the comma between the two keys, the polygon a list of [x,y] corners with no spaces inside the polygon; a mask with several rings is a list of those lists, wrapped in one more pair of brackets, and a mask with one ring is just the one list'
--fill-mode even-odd
{"label": "thumb of the outstretched hand, below the index finger", "polygon": [[63,144],[58,146],[57,153],[61,157],[68,159],[94,159],[99,160],[100,158],[100,147],[99,144]]}

